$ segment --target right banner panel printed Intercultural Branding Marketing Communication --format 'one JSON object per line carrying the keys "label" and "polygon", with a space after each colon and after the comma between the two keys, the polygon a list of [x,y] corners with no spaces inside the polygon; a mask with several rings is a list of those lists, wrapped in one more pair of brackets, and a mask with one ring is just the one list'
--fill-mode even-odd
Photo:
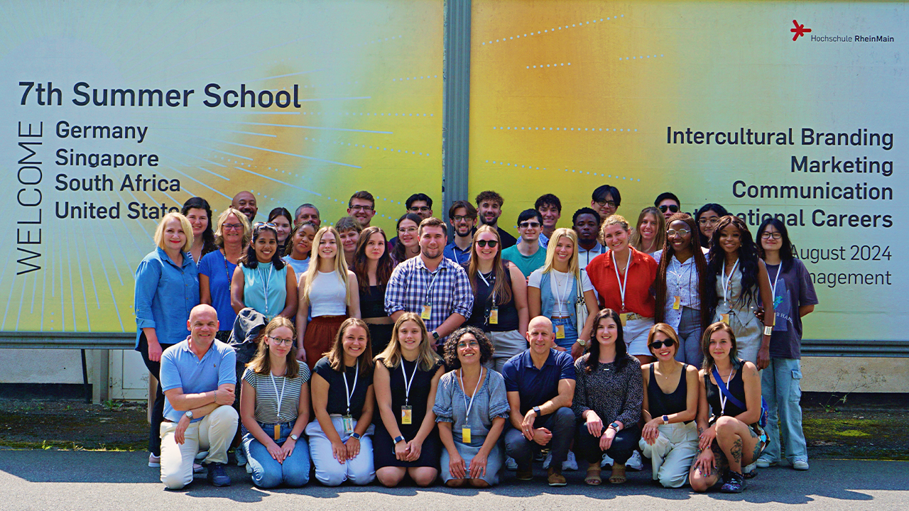
{"label": "right banner panel printed Intercultural Branding Marketing Communication", "polygon": [[[784,219],[809,338],[906,339],[909,13],[896,2],[474,0],[470,188],[598,185]],[[511,193],[515,184],[521,194]],[[753,231],[754,232],[754,231]]]}

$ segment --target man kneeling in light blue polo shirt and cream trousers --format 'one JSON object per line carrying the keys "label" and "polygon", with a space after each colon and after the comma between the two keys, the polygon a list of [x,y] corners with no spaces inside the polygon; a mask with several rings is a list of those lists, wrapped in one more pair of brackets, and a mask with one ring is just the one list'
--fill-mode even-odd
{"label": "man kneeling in light blue polo shirt and cream trousers", "polygon": [[238,416],[231,406],[236,385],[234,348],[215,339],[218,316],[211,306],[189,313],[189,336],[161,355],[165,422],[161,423],[161,481],[178,490],[193,482],[200,447],[208,451],[208,481],[230,486],[227,447]]}

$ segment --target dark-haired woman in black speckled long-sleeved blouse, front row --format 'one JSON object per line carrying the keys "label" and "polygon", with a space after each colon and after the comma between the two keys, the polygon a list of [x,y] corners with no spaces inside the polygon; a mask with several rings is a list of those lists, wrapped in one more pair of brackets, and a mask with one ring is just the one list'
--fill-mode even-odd
{"label": "dark-haired woman in black speckled long-sleeved blouse, front row", "polygon": [[637,423],[644,403],[644,384],[641,363],[627,353],[619,313],[613,309],[596,313],[590,348],[574,362],[574,373],[574,453],[590,463],[584,482],[594,486],[602,483],[600,460],[605,453],[614,460],[609,482],[622,484],[625,462],[641,438]]}

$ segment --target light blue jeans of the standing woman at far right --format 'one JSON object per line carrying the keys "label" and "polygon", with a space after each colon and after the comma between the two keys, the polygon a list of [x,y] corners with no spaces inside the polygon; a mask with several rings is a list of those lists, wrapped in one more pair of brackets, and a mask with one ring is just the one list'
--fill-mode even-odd
{"label": "light blue jeans of the standing woman at far right", "polygon": [[[808,448],[802,431],[802,365],[796,358],[771,358],[761,376],[761,394],[767,401],[767,446],[761,455],[780,461],[780,433],[790,463],[808,461]],[[779,421],[779,426],[777,426]]]}

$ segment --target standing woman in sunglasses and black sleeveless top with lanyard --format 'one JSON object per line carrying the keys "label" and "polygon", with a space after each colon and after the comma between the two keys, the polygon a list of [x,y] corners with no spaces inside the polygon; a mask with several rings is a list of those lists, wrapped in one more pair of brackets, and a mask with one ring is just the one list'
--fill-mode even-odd
{"label": "standing woman in sunglasses and black sleeveless top with lanyard", "polygon": [[502,260],[499,233],[480,225],[474,234],[470,262],[465,264],[474,291],[474,310],[466,325],[484,331],[493,343],[489,367],[502,372],[512,356],[527,349],[527,285],[524,274],[511,261]]}

